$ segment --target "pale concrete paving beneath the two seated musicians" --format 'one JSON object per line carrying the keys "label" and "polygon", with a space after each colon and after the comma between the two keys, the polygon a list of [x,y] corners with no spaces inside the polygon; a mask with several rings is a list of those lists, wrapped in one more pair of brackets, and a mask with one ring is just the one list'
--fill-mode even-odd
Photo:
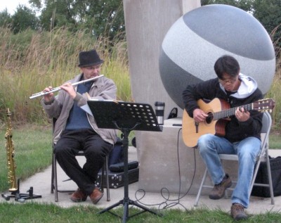
{"label": "pale concrete paving beneath the two seated musicians", "polygon": [[[270,155],[276,157],[280,154],[281,151],[271,151]],[[136,160],[136,148],[129,148],[129,160]],[[83,160],[80,160],[83,162]],[[59,188],[63,189],[77,189],[77,186],[73,183],[73,181],[63,182],[64,179],[67,179],[67,176],[64,174],[60,167],[58,167],[58,185]],[[84,203],[72,203],[69,199],[70,194],[67,193],[59,193],[58,194],[58,202],[55,202],[54,194],[51,193],[51,167],[48,167],[44,172],[39,172],[29,179],[22,181],[20,183],[20,192],[25,193],[30,189],[30,186],[33,187],[34,194],[41,195],[42,198],[27,200],[26,202],[40,202],[40,203],[55,203],[56,205],[60,205],[61,207],[71,207],[73,205],[93,205],[91,200],[88,198]],[[136,193],[138,191],[138,182],[129,185],[129,198],[131,200],[137,200],[143,196],[141,202],[146,205],[148,208],[164,208],[166,205],[171,206],[171,208],[181,208],[181,209],[190,209],[195,208],[195,196],[194,195],[176,195],[172,194],[169,197],[169,200],[166,200],[164,196],[160,193]],[[106,189],[105,189],[106,192]],[[137,194],[137,196],[136,196]],[[137,198],[136,198],[137,197]],[[178,197],[180,199],[178,200]],[[98,208],[107,208],[110,205],[117,203],[119,200],[124,198],[124,187],[120,187],[119,189],[110,189],[110,201],[106,200],[106,193],[100,202],[96,205]],[[1,199],[2,202],[13,202],[13,199],[10,201],[6,201]],[[162,205],[159,205],[162,203]],[[222,198],[221,200],[210,200],[208,196],[201,196],[198,207],[207,207],[210,209],[221,208],[222,210],[226,210],[229,212],[230,210],[230,199]],[[250,205],[247,209],[248,213],[258,214],[268,212],[270,210],[280,211],[281,210],[281,196],[275,197],[275,205],[270,204],[270,198],[258,198],[251,196]]]}

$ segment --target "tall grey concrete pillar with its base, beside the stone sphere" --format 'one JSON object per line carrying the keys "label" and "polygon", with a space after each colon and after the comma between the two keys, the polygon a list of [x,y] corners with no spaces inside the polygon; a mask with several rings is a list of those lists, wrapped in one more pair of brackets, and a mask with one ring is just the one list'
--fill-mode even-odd
{"label": "tall grey concrete pillar with its base, beside the stone sphere", "polygon": [[[163,39],[171,25],[188,11],[200,7],[200,0],[123,0],[123,5],[133,100],[138,103],[149,103],[153,108],[155,101],[163,101],[165,103],[164,119],[176,107],[178,108],[178,117],[180,117],[179,120],[181,122],[183,110],[174,103],[162,84],[159,73],[159,53]],[[176,189],[178,189],[178,181],[171,181],[169,178],[171,175],[174,175],[176,167],[178,167],[175,158],[176,150],[174,149],[177,135],[171,134],[171,132],[177,132],[177,129],[175,130],[172,126],[166,126],[164,130],[159,132],[159,134],[136,131],[138,161],[141,166],[139,186],[141,187],[140,189],[145,189],[145,191],[159,192],[161,189],[159,186],[163,186],[160,182],[163,180],[169,184],[167,186],[171,190],[170,192],[176,192]],[[150,133],[153,137],[148,139]],[[172,138],[170,144],[166,144],[162,140],[170,139],[166,136]],[[188,148],[183,145],[181,137],[180,140],[181,148],[179,149],[184,153]],[[161,152],[162,148],[165,148],[163,150],[165,151],[164,153]],[[155,152],[159,155],[159,163],[150,162],[152,157],[155,157]],[[165,160],[169,160],[170,153],[173,153],[172,156],[175,159],[166,163]],[[189,170],[187,166],[194,163],[194,157],[185,153],[183,157],[184,161],[182,160],[183,162],[181,162],[183,170]],[[145,163],[151,163],[151,165],[146,166]],[[169,176],[166,176],[168,178],[163,178],[162,181],[155,181],[157,174],[159,174],[159,177],[162,177],[163,171],[155,173],[154,176],[151,176],[149,172],[151,168],[155,169],[159,166],[162,167],[162,165],[166,166],[166,170],[169,170]],[[183,186],[183,191],[181,192],[186,191],[193,171],[190,168],[190,172],[185,171],[183,173],[183,184],[185,186]],[[200,177],[198,177],[198,180],[200,180]]]}

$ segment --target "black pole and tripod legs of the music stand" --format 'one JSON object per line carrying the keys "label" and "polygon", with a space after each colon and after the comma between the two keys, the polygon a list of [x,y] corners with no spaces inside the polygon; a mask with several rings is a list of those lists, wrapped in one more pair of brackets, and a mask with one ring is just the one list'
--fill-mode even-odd
{"label": "black pole and tripod legs of the music stand", "polygon": [[[115,122],[115,125],[117,125],[117,123]],[[138,125],[138,123],[135,125],[135,127]],[[123,139],[122,139],[122,146],[123,146],[123,151],[124,151],[124,198],[123,200],[119,200],[119,202],[115,203],[114,205],[111,205],[108,208],[105,208],[104,210],[101,210],[100,212],[98,212],[98,214],[103,214],[104,212],[110,212],[110,210],[112,208],[115,208],[119,205],[123,205],[124,206],[124,212],[123,212],[123,223],[126,222],[127,219],[136,216],[136,215],[140,215],[143,212],[150,212],[154,215],[159,215],[162,216],[161,213],[157,213],[154,212],[152,210],[150,210],[149,208],[146,208],[143,205],[140,205],[138,203],[136,203],[134,200],[131,200],[129,198],[129,177],[128,177],[128,148],[129,148],[129,133],[131,132],[131,130],[133,130],[135,127],[131,128],[131,129],[126,129],[126,128],[119,128],[119,130],[121,130],[122,134],[123,134]],[[138,208],[141,208],[142,211],[137,212],[134,215],[129,216],[129,205],[135,205]],[[110,212],[110,214],[115,215],[117,217],[120,217],[119,215],[116,215],[113,212]],[[120,217],[121,218],[121,217]]]}

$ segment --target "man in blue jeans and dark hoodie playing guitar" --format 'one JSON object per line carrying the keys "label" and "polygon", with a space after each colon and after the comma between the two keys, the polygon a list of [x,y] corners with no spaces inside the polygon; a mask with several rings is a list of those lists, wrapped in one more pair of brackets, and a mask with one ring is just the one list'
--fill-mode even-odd
{"label": "man in blue jeans and dark hoodie playing guitar", "polygon": [[197,104],[200,99],[214,98],[227,101],[230,108],[237,109],[226,123],[225,136],[203,134],[197,141],[200,155],[207,166],[214,188],[210,199],[220,199],[232,182],[223,170],[218,154],[237,154],[239,158],[237,185],[231,197],[231,216],[246,219],[244,208],[249,205],[250,184],[254,172],[255,158],[261,148],[261,125],[263,114],[258,110],[247,110],[243,106],[263,97],[256,81],[240,73],[240,65],[232,56],[221,56],[214,64],[217,77],[199,84],[188,85],[183,91],[183,103],[188,115],[195,122],[204,122],[208,117]]}

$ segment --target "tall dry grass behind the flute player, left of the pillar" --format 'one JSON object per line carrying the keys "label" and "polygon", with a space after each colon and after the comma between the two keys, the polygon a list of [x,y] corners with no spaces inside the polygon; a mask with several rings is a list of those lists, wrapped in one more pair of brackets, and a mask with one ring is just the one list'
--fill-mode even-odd
{"label": "tall dry grass behind the flute player, left of the pillar", "polygon": [[[25,30],[14,35],[0,28],[0,121],[6,108],[13,111],[13,120],[48,122],[39,103],[29,97],[47,86],[58,87],[79,74],[80,51],[97,49],[105,60],[103,75],[117,84],[119,100],[131,100],[129,69],[125,42],[93,39],[85,32],[75,34],[65,29],[52,32]],[[1,123],[0,123],[1,124]]]}

